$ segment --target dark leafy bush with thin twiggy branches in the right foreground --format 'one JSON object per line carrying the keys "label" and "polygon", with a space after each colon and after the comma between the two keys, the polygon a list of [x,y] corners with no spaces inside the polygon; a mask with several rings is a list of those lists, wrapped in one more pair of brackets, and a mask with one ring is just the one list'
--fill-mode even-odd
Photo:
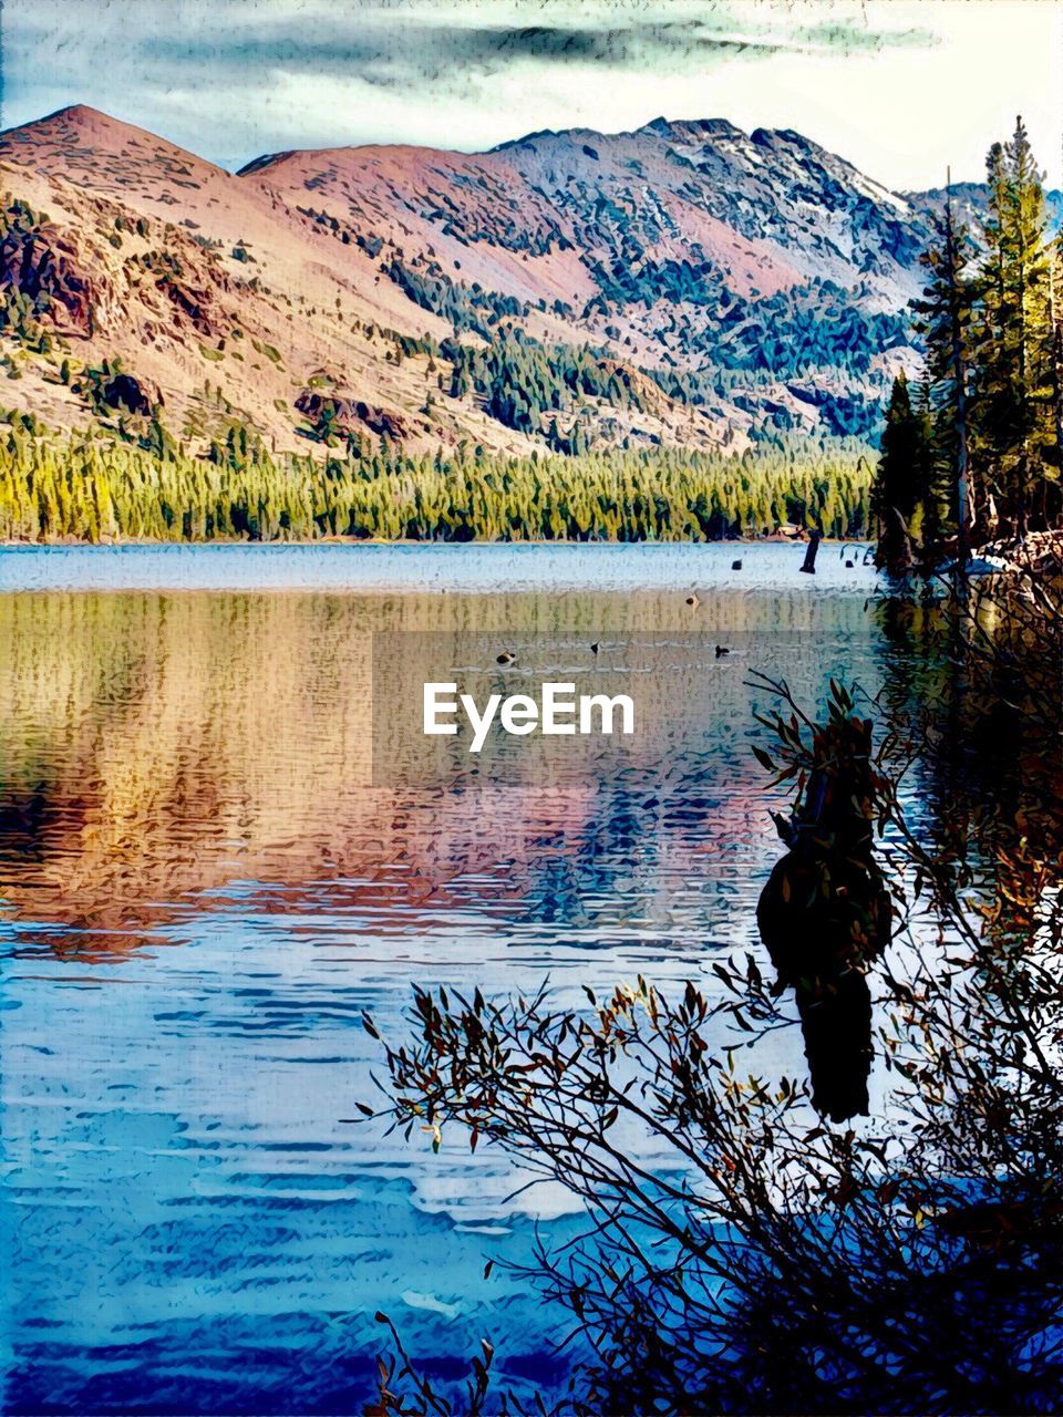
{"label": "dark leafy bush with thin twiggy branches in the right foreground", "polygon": [[[1063,1404],[1063,809],[1039,747],[1063,728],[1060,588],[1023,577],[982,604],[883,614],[893,633],[921,626],[921,673],[938,684],[920,696],[926,721],[890,686],[889,731],[853,802],[886,833],[897,904],[874,966],[883,1115],[833,1127],[804,1081],[740,1063],[788,1024],[785,981],[753,955],[713,966],[717,1003],[693,982],[669,995],[642,976],[607,999],[588,992],[587,1010],[415,988],[408,1040],[383,1043],[381,1114],[434,1145],[456,1132],[499,1148],[583,1202],[583,1237],[540,1247],[527,1272],[570,1312],[575,1359],[568,1394],[537,1407],[496,1376],[489,1345],[463,1394],[439,1390],[380,1315],[376,1414]],[[917,837],[899,798],[913,744],[955,781],[950,754],[986,717],[999,740],[1001,676],[1012,687],[996,751],[1022,765],[1020,806],[952,795]],[[852,697],[836,691],[815,724],[785,684],[767,687],[781,703],[758,752],[777,782],[812,795],[816,774],[846,761],[860,775]],[[792,905],[818,908],[804,894]]]}

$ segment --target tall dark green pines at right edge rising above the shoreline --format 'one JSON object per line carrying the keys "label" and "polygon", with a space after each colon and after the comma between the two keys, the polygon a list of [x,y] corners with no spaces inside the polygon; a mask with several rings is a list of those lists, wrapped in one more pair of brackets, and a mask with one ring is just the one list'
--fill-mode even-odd
{"label": "tall dark green pines at right edge rising above the shoreline", "polygon": [[1022,119],[989,149],[979,231],[947,201],[921,261],[926,385],[916,410],[894,381],[873,493],[879,555],[892,565],[913,551],[933,564],[957,537],[1063,524],[1063,264]]}

